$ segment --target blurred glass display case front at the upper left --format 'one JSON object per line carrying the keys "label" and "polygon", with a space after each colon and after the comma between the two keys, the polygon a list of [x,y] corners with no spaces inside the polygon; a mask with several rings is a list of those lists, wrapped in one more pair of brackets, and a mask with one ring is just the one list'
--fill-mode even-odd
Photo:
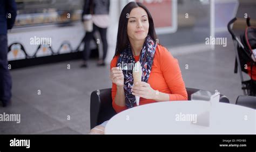
{"label": "blurred glass display case front at the upper left", "polygon": [[15,27],[67,24],[80,19],[82,0],[16,0],[18,16]]}

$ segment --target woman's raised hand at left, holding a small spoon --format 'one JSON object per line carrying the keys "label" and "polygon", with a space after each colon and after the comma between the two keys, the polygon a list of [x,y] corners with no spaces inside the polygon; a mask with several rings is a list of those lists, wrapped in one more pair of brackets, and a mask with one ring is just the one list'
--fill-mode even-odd
{"label": "woman's raised hand at left, holding a small spoon", "polygon": [[124,74],[123,74],[122,68],[113,67],[111,69],[110,79],[118,87],[123,87],[124,86]]}

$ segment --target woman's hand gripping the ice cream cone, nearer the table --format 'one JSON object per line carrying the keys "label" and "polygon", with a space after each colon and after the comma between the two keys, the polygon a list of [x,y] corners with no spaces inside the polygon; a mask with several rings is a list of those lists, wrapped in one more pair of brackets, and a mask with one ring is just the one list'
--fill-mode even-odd
{"label": "woman's hand gripping the ice cream cone, nearer the table", "polygon": [[140,96],[145,99],[155,100],[157,91],[151,88],[150,84],[146,82],[137,82],[132,86],[132,94],[135,96]]}

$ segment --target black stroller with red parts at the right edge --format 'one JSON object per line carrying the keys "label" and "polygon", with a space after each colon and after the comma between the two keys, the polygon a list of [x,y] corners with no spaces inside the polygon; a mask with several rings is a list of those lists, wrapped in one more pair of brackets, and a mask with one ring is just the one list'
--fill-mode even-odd
{"label": "black stroller with red parts at the right edge", "polygon": [[[234,73],[237,73],[239,70],[244,95],[256,96],[256,27],[251,26],[250,17],[248,17],[246,19],[247,27],[245,33],[240,36],[239,40],[231,30],[231,24],[233,24],[235,20],[237,20],[237,18],[233,18],[227,25],[235,47],[236,58]],[[248,74],[251,79],[244,80],[242,72]]]}

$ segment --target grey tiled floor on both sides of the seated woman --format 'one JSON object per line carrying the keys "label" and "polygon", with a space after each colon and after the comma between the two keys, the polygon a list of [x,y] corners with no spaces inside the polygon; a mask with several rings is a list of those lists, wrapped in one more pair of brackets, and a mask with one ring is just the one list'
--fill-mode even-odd
{"label": "grey tiled floor on both sides of the seated woman", "polygon": [[[225,37],[227,47],[174,57],[179,60],[186,87],[218,90],[234,103],[242,91],[239,75],[233,73],[233,43],[227,33]],[[97,67],[93,60],[87,69],[79,65],[80,61],[74,60],[12,70],[13,103],[0,107],[0,113],[21,114],[21,123],[0,122],[0,134],[89,133],[90,94],[111,87],[109,65]]]}

